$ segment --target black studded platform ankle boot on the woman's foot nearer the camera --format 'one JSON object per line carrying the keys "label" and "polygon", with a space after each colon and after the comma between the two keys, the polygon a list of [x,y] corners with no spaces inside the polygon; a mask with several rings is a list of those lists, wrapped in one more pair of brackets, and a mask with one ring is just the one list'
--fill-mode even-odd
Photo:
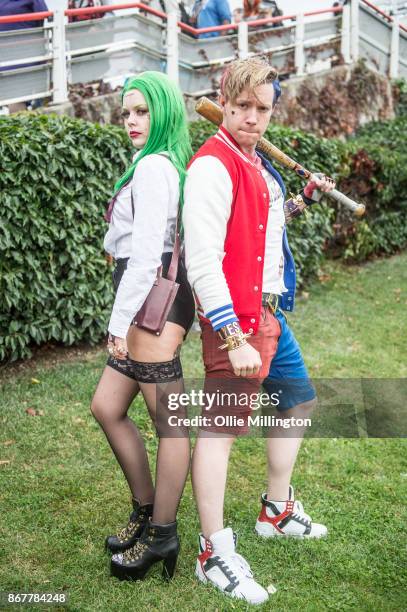
{"label": "black studded platform ankle boot on the woman's foot nearer the camera", "polygon": [[132,548],[113,555],[111,574],[120,580],[142,580],[154,563],[163,561],[163,578],[169,580],[174,575],[179,548],[176,522],[150,522]]}

